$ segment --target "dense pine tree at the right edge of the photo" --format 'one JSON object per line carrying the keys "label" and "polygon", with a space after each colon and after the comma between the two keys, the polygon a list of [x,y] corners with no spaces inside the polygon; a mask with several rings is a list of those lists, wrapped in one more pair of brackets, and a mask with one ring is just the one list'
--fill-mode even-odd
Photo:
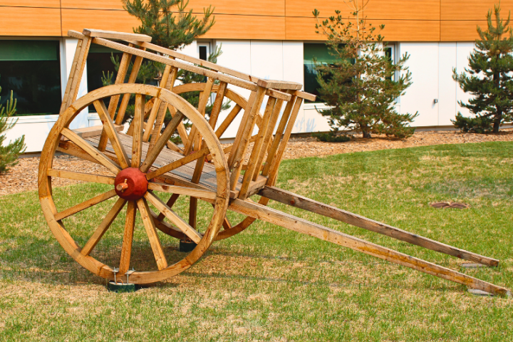
{"label": "dense pine tree at the right edge of the photo", "polygon": [[[457,113],[452,120],[455,127],[464,132],[498,133],[504,122],[513,120],[513,30],[507,21],[500,17],[500,6],[494,6],[494,12],[487,13],[487,31],[477,26],[480,38],[470,53],[469,67],[458,74],[453,69],[452,78],[460,83],[465,93],[474,98],[469,103],[458,103],[474,115],[465,118]],[[493,16],[493,19],[492,19]],[[469,75],[467,75],[470,74]]]}

